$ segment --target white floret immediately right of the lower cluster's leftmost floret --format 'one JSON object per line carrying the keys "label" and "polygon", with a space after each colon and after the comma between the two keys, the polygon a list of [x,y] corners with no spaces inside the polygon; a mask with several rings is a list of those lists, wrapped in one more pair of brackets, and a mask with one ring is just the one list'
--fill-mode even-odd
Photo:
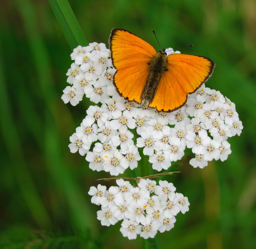
{"label": "white floret immediately right of the lower cluster's leftmost floret", "polygon": [[112,208],[115,205],[123,204],[123,196],[119,192],[119,188],[117,186],[111,186],[109,190],[106,192],[106,195],[100,199],[100,204],[102,207]]}

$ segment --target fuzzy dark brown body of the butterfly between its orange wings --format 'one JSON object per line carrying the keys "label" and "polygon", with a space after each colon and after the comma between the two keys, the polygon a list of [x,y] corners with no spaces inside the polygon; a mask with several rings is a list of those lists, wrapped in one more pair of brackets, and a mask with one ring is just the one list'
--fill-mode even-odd
{"label": "fuzzy dark brown body of the butterfly between its orange wings", "polygon": [[156,54],[149,63],[150,72],[147,77],[141,100],[147,103],[152,102],[161,76],[167,71],[167,57],[161,52]]}

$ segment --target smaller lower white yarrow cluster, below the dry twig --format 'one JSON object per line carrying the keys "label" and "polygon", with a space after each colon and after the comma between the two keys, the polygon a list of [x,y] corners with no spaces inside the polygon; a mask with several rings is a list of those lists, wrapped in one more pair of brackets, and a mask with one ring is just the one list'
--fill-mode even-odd
{"label": "smaller lower white yarrow cluster, below the dry twig", "polygon": [[181,211],[189,210],[188,198],[181,193],[175,193],[176,188],[167,181],[141,179],[137,187],[129,181],[116,180],[118,186],[99,184],[92,186],[88,192],[92,195],[91,202],[101,205],[97,211],[97,219],[102,226],[114,225],[119,220],[120,232],[129,240],[140,234],[144,239],[154,238],[157,231],[170,231],[176,221],[175,216]]}

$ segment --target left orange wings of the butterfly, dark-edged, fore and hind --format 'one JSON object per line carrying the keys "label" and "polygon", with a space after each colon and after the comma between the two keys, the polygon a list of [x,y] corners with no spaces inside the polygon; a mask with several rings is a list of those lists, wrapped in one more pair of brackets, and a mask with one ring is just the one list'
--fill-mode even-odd
{"label": "left orange wings of the butterfly, dark-edged, fore and hind", "polygon": [[121,96],[141,103],[141,95],[147,81],[148,63],[156,50],[140,37],[123,29],[112,29],[109,48],[116,68],[113,84]]}

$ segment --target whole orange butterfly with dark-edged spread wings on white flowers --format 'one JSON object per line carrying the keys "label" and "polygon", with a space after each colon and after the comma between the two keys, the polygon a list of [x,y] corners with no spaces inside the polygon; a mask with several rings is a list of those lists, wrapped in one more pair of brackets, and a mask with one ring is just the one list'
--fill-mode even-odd
{"label": "whole orange butterfly with dark-edged spread wings on white flowers", "polygon": [[157,111],[171,112],[186,104],[211,76],[215,63],[203,56],[159,53],[149,43],[124,29],[112,29],[109,37],[118,93]]}

